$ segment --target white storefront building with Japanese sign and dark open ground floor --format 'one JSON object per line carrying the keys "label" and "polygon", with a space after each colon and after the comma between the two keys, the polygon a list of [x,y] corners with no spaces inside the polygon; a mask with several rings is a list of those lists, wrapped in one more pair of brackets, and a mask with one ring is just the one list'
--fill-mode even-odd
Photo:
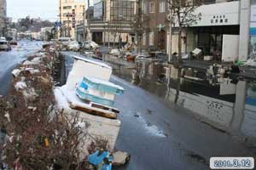
{"label": "white storefront building with Japanese sign and dark open ground floor", "polygon": [[[219,60],[247,61],[251,14],[252,20],[256,21],[256,8],[253,8],[252,4],[256,1],[253,0],[252,4],[249,0],[205,2],[210,4],[201,5],[195,10],[195,14],[201,13],[201,20],[183,30],[182,52],[189,53],[195,48],[201,48],[205,55],[218,53]],[[253,27],[256,27],[256,24]],[[168,52],[169,35],[166,43]],[[172,32],[172,53],[174,52],[177,52],[177,28]]]}

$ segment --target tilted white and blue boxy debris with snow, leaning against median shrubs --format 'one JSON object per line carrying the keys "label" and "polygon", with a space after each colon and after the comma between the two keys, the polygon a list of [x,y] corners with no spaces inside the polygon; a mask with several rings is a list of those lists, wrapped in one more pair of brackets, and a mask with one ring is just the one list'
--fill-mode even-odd
{"label": "tilted white and blue boxy debris with snow, leaning against median shrubs", "polygon": [[86,131],[90,139],[83,146],[86,152],[95,139],[108,140],[109,150],[114,149],[121,122],[119,110],[113,107],[115,95],[124,88],[109,82],[112,68],[101,61],[73,56],[72,71],[67,83],[55,88],[55,99],[60,111],[69,116],[79,114],[82,122],[88,122]]}

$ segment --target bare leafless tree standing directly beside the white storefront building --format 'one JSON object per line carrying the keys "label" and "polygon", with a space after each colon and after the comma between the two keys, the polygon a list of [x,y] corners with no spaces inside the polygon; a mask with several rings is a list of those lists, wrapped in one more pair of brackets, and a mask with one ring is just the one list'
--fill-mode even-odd
{"label": "bare leafless tree standing directly beside the white storefront building", "polygon": [[[167,0],[172,11],[172,24],[178,27],[178,58],[177,65],[182,63],[182,31],[184,27],[191,26],[196,20],[201,20],[201,14],[195,13],[202,0]],[[172,47],[171,47],[172,48]]]}

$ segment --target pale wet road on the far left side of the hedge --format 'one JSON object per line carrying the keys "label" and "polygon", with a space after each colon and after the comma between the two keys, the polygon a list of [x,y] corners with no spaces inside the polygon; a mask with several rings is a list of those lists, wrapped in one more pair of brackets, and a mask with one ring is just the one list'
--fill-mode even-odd
{"label": "pale wet road on the far left side of the hedge", "polygon": [[9,52],[0,51],[0,95],[8,94],[9,83],[12,81],[11,72],[15,66],[42,48],[43,42],[20,41],[17,48]]}

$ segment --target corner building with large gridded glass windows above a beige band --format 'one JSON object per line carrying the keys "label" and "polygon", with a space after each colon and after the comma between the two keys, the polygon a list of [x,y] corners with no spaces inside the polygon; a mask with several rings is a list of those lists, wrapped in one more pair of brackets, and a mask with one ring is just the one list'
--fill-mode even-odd
{"label": "corner building with large gridded glass windows above a beige band", "polygon": [[136,42],[132,26],[135,14],[137,14],[135,0],[97,0],[88,20],[89,37],[103,44]]}

